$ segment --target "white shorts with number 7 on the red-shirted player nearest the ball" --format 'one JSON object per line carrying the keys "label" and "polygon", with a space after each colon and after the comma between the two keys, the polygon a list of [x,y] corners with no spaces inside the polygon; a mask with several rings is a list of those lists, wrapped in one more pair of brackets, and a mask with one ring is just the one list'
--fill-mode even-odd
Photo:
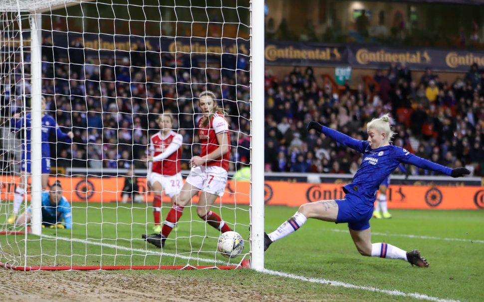
{"label": "white shorts with number 7 on the red-shirted player nearest the ball", "polygon": [[187,182],[204,192],[224,196],[228,177],[227,171],[221,167],[198,166],[192,168],[187,177]]}

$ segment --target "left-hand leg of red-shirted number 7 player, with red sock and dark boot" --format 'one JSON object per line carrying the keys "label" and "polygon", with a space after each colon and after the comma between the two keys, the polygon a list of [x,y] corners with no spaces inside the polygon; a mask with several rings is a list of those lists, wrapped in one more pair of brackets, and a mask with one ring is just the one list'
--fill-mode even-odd
{"label": "left-hand leg of red-shirted number 7 player, with red sock and dark boot", "polygon": [[[170,232],[175,227],[183,214],[183,208],[192,201],[192,198],[200,191],[199,188],[192,186],[189,182],[185,182],[179,195],[174,196],[176,203],[173,203],[172,208],[166,216],[166,220],[161,228],[161,233],[147,235],[143,234],[142,238],[147,242],[153,244],[158,248],[165,246],[165,241],[170,235]],[[173,198],[172,198],[173,201]]]}

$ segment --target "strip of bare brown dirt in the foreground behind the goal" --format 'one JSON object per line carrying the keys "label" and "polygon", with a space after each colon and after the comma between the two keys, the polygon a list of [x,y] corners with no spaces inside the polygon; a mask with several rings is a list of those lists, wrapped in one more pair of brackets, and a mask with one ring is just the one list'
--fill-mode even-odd
{"label": "strip of bare brown dirt in the foreground behind the goal", "polygon": [[130,272],[0,270],[0,301],[293,301],[238,286],[173,275]]}

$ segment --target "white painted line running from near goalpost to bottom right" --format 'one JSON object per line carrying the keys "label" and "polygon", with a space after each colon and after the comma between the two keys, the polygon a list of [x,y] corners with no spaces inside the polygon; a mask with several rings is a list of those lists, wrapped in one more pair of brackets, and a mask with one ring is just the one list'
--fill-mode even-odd
{"label": "white painted line running from near goalpost to bottom right", "polygon": [[290,279],[294,279],[294,280],[300,280],[300,281],[307,281],[307,282],[311,282],[311,283],[319,283],[319,284],[325,284],[325,285],[330,285],[330,286],[343,287],[343,288],[347,288],[347,289],[363,290],[363,291],[368,291],[368,292],[387,294],[387,295],[390,295],[390,296],[411,297],[411,298],[415,298],[415,299],[419,299],[419,300],[428,300],[428,301],[434,301],[434,302],[459,302],[459,300],[441,299],[441,298],[427,296],[427,295],[419,294],[419,293],[404,293],[404,292],[400,292],[400,291],[397,291],[397,290],[382,290],[382,289],[377,289],[377,288],[369,287],[369,286],[360,286],[360,285],[354,285],[354,284],[344,283],[344,282],[340,282],[340,281],[321,279],[321,278],[308,278],[308,277],[304,277],[304,276],[297,276],[297,275],[292,275],[292,274],[287,274],[287,273],[282,273],[282,272],[276,272],[276,271],[271,271],[271,270],[266,270],[266,269],[261,270],[260,272],[264,273],[264,274],[268,274],[268,275],[290,278]]}

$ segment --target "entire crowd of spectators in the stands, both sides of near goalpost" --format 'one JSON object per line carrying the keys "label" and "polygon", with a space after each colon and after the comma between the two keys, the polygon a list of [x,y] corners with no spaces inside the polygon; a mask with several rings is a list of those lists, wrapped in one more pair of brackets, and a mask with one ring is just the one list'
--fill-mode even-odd
{"label": "entire crowd of spectators in the stands, both sides of near goalpost", "polygon": [[[75,134],[72,146],[53,147],[57,166],[145,167],[148,137],[158,131],[157,114],[171,111],[184,136],[182,169],[188,169],[188,160],[200,151],[194,136],[200,110],[192,99],[205,89],[220,95],[230,109],[231,161],[249,160],[249,77],[243,56],[222,55],[222,70],[205,69],[188,55],[175,60],[169,53],[154,51],[145,58],[143,49],[132,51],[130,58],[99,63],[89,56],[84,61],[79,45],[70,48],[69,57],[76,59],[67,64],[66,55],[45,55],[52,53],[52,47],[48,43],[44,47],[42,89],[47,110]],[[55,64],[50,63],[54,56]],[[357,89],[346,85],[335,92],[329,82],[318,85],[311,67],[295,67],[278,77],[267,68],[265,170],[354,173],[359,154],[308,133],[305,125],[317,120],[366,139],[366,122],[389,112],[396,118],[395,145],[446,166],[472,166],[475,175],[484,175],[483,79],[477,65],[465,78],[448,83],[431,69],[414,78],[405,64],[391,64],[376,71],[376,84],[370,89],[361,83]]]}

